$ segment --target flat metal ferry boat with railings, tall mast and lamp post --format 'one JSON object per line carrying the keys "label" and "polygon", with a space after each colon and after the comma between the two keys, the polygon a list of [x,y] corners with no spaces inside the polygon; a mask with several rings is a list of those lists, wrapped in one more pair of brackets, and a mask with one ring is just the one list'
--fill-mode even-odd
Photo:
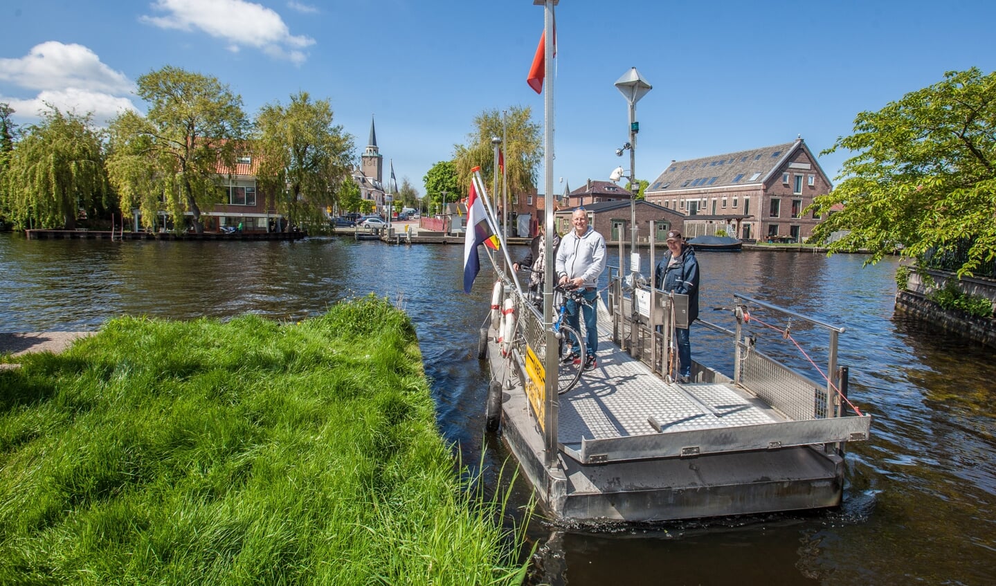
{"label": "flat metal ferry boat with railings, tall mast and lamp post", "polygon": [[[552,39],[557,0],[534,3],[544,5],[544,35]],[[543,189],[548,251],[554,248],[553,59],[552,44],[541,43],[530,73],[537,92],[547,85]],[[625,148],[634,174],[634,103],[651,87],[635,68],[616,86],[629,102]],[[491,234],[500,240],[496,207],[488,202],[479,171],[474,172]],[[630,218],[634,223],[632,207]],[[691,379],[679,381],[672,338],[674,327],[687,325],[681,295],[641,285],[636,230],[630,233],[629,274],[611,267],[608,288],[597,300],[598,367],[563,394],[558,392],[552,255],[545,259],[540,310],[518,277],[506,273],[512,262],[505,243],[501,253],[488,253],[497,281],[478,346],[491,377],[486,425],[500,432],[547,516],[567,524],[656,521],[839,505],[845,447],[871,433],[871,415],[848,402],[847,369],[837,364],[844,328],[737,294],[730,308],[733,329],[702,322],[728,337],[733,371],[695,363]],[[622,260],[622,242],[620,249]],[[476,255],[475,244],[465,248],[465,255],[471,251]],[[650,239],[650,267],[655,254]],[[465,256],[465,265],[467,259],[476,261]],[[821,356],[826,362],[818,368],[825,379],[813,381],[759,347],[753,328],[765,322],[776,329],[783,324],[778,337],[785,339],[800,324],[807,336],[825,333]]]}

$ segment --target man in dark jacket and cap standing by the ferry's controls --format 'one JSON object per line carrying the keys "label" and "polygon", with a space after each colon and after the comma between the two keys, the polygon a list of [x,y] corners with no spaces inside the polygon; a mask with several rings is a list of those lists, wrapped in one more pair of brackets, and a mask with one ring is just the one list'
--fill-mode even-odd
{"label": "man in dark jacket and cap standing by the ferry's controls", "polygon": [[[685,244],[681,232],[667,233],[667,252],[657,263],[653,275],[657,289],[688,295],[688,325],[698,317],[698,261],[695,252]],[[674,339],[678,346],[678,380],[688,382],[691,377],[691,342],[687,327],[675,327]]]}

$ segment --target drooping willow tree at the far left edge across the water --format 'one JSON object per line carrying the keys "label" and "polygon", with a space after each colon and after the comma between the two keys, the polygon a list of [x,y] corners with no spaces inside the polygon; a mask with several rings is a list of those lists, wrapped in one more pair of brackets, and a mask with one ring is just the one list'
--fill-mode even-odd
{"label": "drooping willow tree at the far left edge across the water", "polygon": [[102,136],[90,114],[49,105],[7,158],[5,207],[27,227],[76,229],[81,209],[103,207],[108,195]]}

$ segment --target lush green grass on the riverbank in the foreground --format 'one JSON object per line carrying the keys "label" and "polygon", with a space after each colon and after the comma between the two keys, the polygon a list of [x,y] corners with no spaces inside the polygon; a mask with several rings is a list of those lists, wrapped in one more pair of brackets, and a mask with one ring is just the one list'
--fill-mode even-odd
{"label": "lush green grass on the riverbank in the foreground", "polygon": [[507,584],[408,318],[109,321],[0,371],[0,584]]}

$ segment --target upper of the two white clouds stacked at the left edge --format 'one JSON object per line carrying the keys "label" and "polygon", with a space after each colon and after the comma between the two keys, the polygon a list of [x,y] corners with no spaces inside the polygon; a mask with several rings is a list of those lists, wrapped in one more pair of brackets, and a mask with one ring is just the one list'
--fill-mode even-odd
{"label": "upper of the two white clouds stacked at the left edge", "polygon": [[106,94],[130,94],[132,84],[121,72],[101,63],[83,45],[48,41],[20,59],[0,59],[0,81],[28,90],[76,88]]}

